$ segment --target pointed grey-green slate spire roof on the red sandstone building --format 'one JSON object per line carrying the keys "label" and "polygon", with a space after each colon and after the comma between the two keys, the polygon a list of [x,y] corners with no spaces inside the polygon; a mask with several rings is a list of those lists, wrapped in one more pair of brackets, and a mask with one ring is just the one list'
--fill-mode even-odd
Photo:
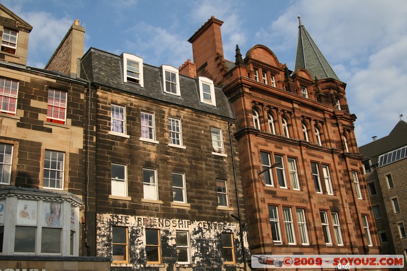
{"label": "pointed grey-green slate spire roof on the red sandstone building", "polygon": [[295,62],[295,71],[304,68],[309,71],[312,78],[318,79],[333,78],[339,81],[334,70],[329,65],[327,59],[319,51],[318,47],[308,34],[301,22],[301,16],[298,16],[300,26],[298,26],[298,44]]}

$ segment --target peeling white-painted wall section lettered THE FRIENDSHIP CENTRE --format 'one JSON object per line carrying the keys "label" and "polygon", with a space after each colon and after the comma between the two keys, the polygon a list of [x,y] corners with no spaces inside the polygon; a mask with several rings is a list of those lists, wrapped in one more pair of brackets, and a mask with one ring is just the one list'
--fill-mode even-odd
{"label": "peeling white-painted wall section lettered THE FRIENDSHIP CENTRE", "polygon": [[[97,215],[97,255],[112,255],[112,226],[128,227],[129,264],[111,264],[111,270],[241,270],[242,248],[238,222],[208,222],[184,219]],[[161,264],[146,264],[146,228],[160,230]],[[190,264],[177,263],[176,230],[189,232]],[[222,232],[234,236],[236,264],[223,264]],[[247,232],[244,232],[248,251]],[[246,257],[248,253],[246,252]]]}

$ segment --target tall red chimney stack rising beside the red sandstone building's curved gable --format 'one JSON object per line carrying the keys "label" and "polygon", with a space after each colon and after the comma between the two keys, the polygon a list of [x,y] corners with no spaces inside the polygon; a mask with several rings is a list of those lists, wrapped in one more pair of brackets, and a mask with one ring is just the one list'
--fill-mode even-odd
{"label": "tall red chimney stack rising beside the red sandstone building's curved gable", "polygon": [[198,76],[205,76],[215,84],[222,81],[225,70],[220,26],[223,21],[212,16],[188,40],[192,44],[193,63]]}

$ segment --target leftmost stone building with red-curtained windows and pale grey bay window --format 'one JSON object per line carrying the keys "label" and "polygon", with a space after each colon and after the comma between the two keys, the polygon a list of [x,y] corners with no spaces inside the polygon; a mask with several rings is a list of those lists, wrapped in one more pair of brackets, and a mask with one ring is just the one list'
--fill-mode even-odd
{"label": "leftmost stone building with red-curtained windows and pale grey bay window", "polygon": [[88,83],[27,67],[31,29],[0,5],[0,269],[106,270],[79,257]]}

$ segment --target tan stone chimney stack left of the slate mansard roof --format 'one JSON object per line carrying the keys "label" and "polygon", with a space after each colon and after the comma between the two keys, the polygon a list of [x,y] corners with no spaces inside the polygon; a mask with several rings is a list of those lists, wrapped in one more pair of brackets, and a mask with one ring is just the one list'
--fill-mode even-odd
{"label": "tan stone chimney stack left of the slate mansard roof", "polygon": [[49,59],[46,70],[57,71],[72,78],[77,76],[77,59],[83,56],[85,28],[76,19]]}

